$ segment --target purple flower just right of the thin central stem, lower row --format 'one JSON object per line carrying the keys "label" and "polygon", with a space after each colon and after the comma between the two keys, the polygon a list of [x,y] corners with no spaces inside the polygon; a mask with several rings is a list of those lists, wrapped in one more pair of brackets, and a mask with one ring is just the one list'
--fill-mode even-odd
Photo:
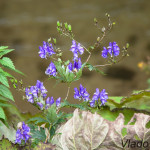
{"label": "purple flower just right of the thin central stem, lower row", "polygon": [[81,98],[84,101],[88,101],[89,100],[89,93],[86,91],[86,88],[84,88],[81,84],[80,84],[80,90],[78,90],[77,88],[74,88],[75,92],[74,92],[74,98],[75,99],[79,99],[81,100]]}

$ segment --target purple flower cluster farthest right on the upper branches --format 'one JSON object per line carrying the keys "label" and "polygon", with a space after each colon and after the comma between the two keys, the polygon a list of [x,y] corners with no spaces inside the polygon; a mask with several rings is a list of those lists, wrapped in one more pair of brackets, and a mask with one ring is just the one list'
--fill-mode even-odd
{"label": "purple flower cluster farthest right on the upper branches", "polygon": [[109,46],[103,47],[103,51],[102,51],[102,57],[107,58],[108,57],[108,53],[111,55],[111,57],[113,56],[118,56],[120,52],[120,48],[118,47],[116,42],[110,42]]}

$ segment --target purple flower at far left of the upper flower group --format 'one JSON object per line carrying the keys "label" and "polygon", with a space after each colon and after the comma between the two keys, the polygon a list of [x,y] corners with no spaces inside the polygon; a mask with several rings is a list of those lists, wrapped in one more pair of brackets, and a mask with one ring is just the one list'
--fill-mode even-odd
{"label": "purple flower at far left of the upper flower group", "polygon": [[46,56],[51,56],[55,54],[52,44],[49,44],[48,42],[43,41],[43,47],[39,46],[39,56],[41,58],[46,58]]}

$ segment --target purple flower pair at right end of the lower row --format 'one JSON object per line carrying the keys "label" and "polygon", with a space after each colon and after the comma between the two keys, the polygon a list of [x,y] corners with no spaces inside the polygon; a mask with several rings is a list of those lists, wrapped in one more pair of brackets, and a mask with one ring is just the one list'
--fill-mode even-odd
{"label": "purple flower pair at right end of the lower row", "polygon": [[90,102],[90,106],[94,107],[95,106],[95,102],[100,99],[101,100],[101,105],[105,105],[105,103],[107,102],[108,99],[108,93],[105,92],[105,89],[103,89],[101,92],[99,91],[99,89],[96,89],[96,92],[93,95],[92,101]]}

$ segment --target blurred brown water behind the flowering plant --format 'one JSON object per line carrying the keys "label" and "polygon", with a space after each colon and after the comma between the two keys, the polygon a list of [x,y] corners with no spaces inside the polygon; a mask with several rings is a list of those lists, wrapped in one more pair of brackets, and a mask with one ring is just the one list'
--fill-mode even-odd
{"label": "blurred brown water behind the flowering plant", "polygon": [[[50,59],[41,59],[38,55],[39,46],[49,37],[57,38],[57,47],[63,52],[64,59],[72,59],[69,51],[71,40],[61,37],[56,30],[56,22],[68,22],[72,25],[75,39],[84,46],[92,45],[101,32],[94,26],[96,17],[100,26],[107,25],[105,13],[111,15],[116,25],[102,41],[101,48],[96,49],[90,58],[91,64],[105,64],[101,57],[103,46],[116,41],[120,48],[127,42],[130,44],[129,55],[119,64],[112,67],[99,68],[107,75],[84,70],[82,78],[71,86],[68,100],[78,103],[73,98],[74,87],[80,83],[93,96],[96,88],[106,89],[109,96],[128,96],[133,90],[146,89],[148,75],[137,67],[140,61],[150,55],[150,1],[148,0],[0,0],[0,45],[15,49],[8,56],[17,69],[27,75],[22,79],[24,86],[35,85],[37,80],[44,82],[48,96],[65,98],[67,85],[59,84],[55,88],[55,80],[47,80],[45,70]],[[84,61],[87,53],[82,56]],[[23,112],[35,112],[32,105],[22,100],[24,93],[13,92],[16,104]]]}

